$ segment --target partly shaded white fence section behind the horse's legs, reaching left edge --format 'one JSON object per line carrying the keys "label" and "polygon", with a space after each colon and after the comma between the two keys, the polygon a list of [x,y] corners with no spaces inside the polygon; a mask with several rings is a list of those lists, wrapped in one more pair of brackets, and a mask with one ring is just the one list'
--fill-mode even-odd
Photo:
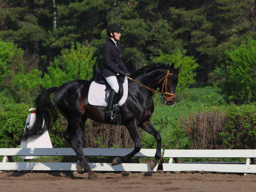
{"label": "partly shaded white fence section behind the horse's legs, reaching left edge", "polygon": [[[125,156],[133,149],[122,148],[83,148],[86,156]],[[163,151],[161,151],[163,152]],[[141,149],[136,157],[154,157],[156,149]],[[0,156],[76,156],[72,148],[0,148]],[[5,160],[5,159],[4,159]],[[77,171],[74,163],[47,163],[47,162],[2,162],[0,170],[36,170],[36,171]],[[93,171],[130,171],[156,172],[150,169],[149,164],[123,163],[112,166],[111,163],[89,163]]]}

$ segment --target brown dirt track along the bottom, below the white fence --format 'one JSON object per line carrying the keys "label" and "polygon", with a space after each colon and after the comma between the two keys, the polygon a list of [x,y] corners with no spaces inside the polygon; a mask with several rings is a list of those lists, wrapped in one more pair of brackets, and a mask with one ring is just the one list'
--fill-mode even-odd
{"label": "brown dirt track along the bottom, below the white fence", "polygon": [[97,179],[87,177],[77,172],[0,172],[0,191],[256,191],[256,174],[108,172],[97,173]]}

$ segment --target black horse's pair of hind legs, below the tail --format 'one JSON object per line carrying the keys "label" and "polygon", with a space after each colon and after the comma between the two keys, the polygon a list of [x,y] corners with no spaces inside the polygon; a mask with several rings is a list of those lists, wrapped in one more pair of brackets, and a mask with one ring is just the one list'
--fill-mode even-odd
{"label": "black horse's pair of hind legs, below the tail", "polygon": [[89,178],[92,178],[95,176],[95,174],[93,174],[88,164],[87,158],[85,158],[83,152],[83,135],[85,121],[86,118],[82,118],[82,120],[79,120],[79,118],[72,118],[68,120],[68,128],[65,132],[64,137],[77,154],[79,160],[79,163],[77,163],[77,171],[82,172],[82,170],[84,169],[84,171],[89,174]]}

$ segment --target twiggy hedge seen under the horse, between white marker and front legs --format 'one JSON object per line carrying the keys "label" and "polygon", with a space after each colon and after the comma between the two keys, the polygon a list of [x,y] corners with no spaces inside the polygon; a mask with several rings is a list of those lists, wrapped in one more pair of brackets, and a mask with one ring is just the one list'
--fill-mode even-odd
{"label": "twiggy hedge seen under the horse, between white marker and front legs", "polygon": [[[70,147],[64,138],[67,120],[59,115],[48,130],[53,147]],[[84,146],[87,148],[133,148],[133,141],[125,126],[97,123],[88,119],[84,130]]]}

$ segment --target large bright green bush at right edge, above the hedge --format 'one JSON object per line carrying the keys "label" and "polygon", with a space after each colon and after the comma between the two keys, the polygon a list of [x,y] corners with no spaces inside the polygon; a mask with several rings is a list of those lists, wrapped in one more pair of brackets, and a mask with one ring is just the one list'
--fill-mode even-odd
{"label": "large bright green bush at right edge, above the hedge", "polygon": [[256,100],[256,41],[226,51],[229,60],[215,72],[219,75],[216,85],[230,102],[249,103]]}

